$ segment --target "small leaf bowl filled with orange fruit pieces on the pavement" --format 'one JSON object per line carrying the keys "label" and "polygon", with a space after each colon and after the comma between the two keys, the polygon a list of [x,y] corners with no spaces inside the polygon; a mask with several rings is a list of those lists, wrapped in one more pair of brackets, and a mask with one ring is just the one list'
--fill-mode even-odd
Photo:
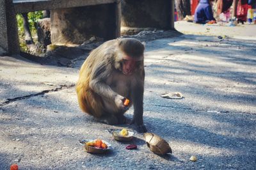
{"label": "small leaf bowl filled with orange fruit pieces on the pavement", "polygon": [[88,153],[104,153],[111,149],[111,144],[101,139],[81,140],[79,143],[84,144],[84,150]]}

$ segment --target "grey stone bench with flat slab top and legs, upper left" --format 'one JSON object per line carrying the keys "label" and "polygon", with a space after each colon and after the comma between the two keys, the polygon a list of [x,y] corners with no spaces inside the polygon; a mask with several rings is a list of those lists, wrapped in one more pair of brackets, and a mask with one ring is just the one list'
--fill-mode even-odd
{"label": "grey stone bench with flat slab top and legs, upper left", "polygon": [[19,54],[19,37],[17,31],[17,13],[40,10],[56,10],[79,6],[114,4],[116,8],[115,36],[120,36],[120,0],[0,0],[0,46],[8,54]]}

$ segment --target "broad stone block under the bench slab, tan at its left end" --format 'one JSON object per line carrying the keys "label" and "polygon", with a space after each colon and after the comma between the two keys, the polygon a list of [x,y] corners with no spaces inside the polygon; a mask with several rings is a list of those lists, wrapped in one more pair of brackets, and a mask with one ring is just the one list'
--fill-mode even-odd
{"label": "broad stone block under the bench slab, tan at its left end", "polygon": [[120,2],[51,10],[51,41],[56,45],[81,44],[97,36],[120,36]]}

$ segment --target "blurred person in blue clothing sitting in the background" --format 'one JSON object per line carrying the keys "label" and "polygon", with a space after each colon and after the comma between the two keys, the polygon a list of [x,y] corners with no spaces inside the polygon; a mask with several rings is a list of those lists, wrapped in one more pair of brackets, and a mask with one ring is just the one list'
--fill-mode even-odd
{"label": "blurred person in blue clothing sitting in the background", "polygon": [[198,24],[215,24],[216,19],[213,17],[212,5],[209,0],[200,0],[194,15],[194,21]]}

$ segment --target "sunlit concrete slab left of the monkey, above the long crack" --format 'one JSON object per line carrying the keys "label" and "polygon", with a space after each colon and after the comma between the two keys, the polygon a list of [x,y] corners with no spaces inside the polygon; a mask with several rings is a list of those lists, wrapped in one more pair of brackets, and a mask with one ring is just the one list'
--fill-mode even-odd
{"label": "sunlit concrete slab left of the monkey, above the long crack", "polygon": [[20,56],[1,57],[0,66],[0,104],[41,93],[43,95],[47,91],[65,86],[72,87],[76,83],[78,72],[66,67],[38,65]]}

